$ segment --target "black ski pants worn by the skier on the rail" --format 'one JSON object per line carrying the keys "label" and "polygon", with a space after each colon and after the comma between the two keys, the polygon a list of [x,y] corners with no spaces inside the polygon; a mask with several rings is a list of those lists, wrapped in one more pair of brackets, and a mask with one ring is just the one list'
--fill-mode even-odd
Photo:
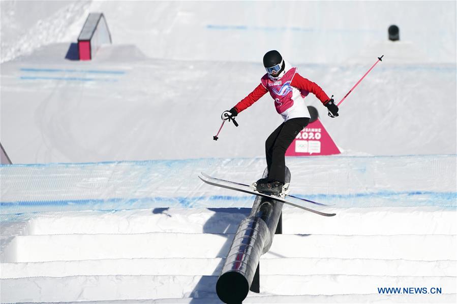
{"label": "black ski pants worn by the skier on the rail", "polygon": [[285,182],[287,148],[292,144],[297,134],[308,125],[307,117],[292,118],[283,122],[274,130],[265,142],[266,165],[268,181]]}

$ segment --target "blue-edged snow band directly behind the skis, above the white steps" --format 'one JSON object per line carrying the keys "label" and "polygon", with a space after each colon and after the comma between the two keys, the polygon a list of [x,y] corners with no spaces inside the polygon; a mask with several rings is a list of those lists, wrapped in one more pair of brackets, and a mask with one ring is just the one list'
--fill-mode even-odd
{"label": "blue-edged snow band directly behind the skis, above the white steps", "polygon": [[[287,158],[291,194],[338,207],[453,206],[449,156]],[[2,166],[2,214],[163,207],[252,207],[252,196],[214,189],[197,175],[250,183],[263,158]],[[61,186],[62,185],[62,186]],[[368,201],[367,201],[368,200]],[[229,204],[229,205],[227,205]]]}

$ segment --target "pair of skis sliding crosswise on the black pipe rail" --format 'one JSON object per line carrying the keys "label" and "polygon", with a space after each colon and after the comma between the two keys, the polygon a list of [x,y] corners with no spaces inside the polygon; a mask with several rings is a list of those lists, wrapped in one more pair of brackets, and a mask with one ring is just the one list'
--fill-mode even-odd
{"label": "pair of skis sliding crosswise on the black pipe rail", "polygon": [[261,193],[261,192],[256,191],[255,188],[253,186],[250,186],[250,185],[246,185],[246,184],[241,184],[241,183],[236,183],[236,182],[232,182],[232,181],[227,181],[227,180],[215,178],[215,177],[209,176],[209,175],[207,175],[207,174],[205,174],[203,172],[201,173],[201,175],[202,176],[198,176],[198,178],[201,179],[203,182],[205,182],[208,185],[221,187],[221,188],[225,188],[225,189],[231,189],[231,190],[240,191],[240,192],[245,192],[245,193],[250,193],[250,194],[254,194],[254,195],[258,195],[258,196],[263,196],[263,197],[266,197],[266,198],[271,198],[271,199],[274,199],[274,200],[282,201],[285,204],[288,204],[288,205],[291,205],[291,206],[294,206],[294,207],[297,207],[297,208],[300,208],[300,209],[303,209],[303,210],[306,210],[306,211],[309,211],[309,212],[313,212],[313,213],[316,213],[316,214],[319,214],[319,215],[322,215],[322,216],[334,216],[334,215],[336,215],[335,213],[320,212],[320,211],[317,211],[317,210],[314,210],[314,209],[310,209],[310,208],[307,208],[307,207],[303,207],[303,206],[294,204],[290,200],[287,200],[286,197],[287,198],[290,197],[290,198],[293,198],[293,199],[296,199],[296,200],[300,200],[300,201],[311,202],[312,204],[316,204],[316,205],[320,205],[320,206],[328,206],[328,205],[320,204],[319,202],[315,202],[315,201],[312,201],[312,200],[309,200],[309,199],[305,199],[305,198],[301,198],[301,197],[293,196],[293,195],[288,195],[288,194],[284,194],[284,197],[277,196],[277,195],[269,195],[269,194],[265,194],[265,193]]}

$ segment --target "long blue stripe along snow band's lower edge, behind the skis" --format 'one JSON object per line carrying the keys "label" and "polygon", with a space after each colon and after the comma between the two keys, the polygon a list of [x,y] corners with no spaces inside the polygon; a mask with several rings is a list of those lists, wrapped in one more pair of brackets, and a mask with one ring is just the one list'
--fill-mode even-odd
{"label": "long blue stripe along snow band's lower edge, behind the skis", "polygon": [[[300,195],[334,208],[370,207],[444,207],[455,208],[457,192],[404,191],[353,194],[311,194]],[[69,199],[42,201],[0,202],[1,220],[13,214],[65,211],[118,211],[150,208],[251,208],[254,195],[227,196],[210,195],[196,197],[144,197],[109,199]],[[291,199],[304,207],[325,211],[325,208]]]}

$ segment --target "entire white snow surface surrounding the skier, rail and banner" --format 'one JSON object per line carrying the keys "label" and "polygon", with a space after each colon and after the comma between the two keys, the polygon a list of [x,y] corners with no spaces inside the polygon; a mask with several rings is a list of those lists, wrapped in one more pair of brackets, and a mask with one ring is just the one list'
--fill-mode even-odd
{"label": "entire white snow surface surrounding the skier, rail and banner", "polygon": [[[212,136],[270,49],[337,102],[384,57],[338,118],[307,97],[343,153],[287,158],[291,193],[337,216],[285,206],[261,292],[243,302],[457,301],[455,2],[0,6],[0,141],[14,163],[0,166],[2,303],[220,303],[254,197],[196,176],[262,174],[281,123],[268,95]],[[113,44],[66,59],[90,12]]]}

